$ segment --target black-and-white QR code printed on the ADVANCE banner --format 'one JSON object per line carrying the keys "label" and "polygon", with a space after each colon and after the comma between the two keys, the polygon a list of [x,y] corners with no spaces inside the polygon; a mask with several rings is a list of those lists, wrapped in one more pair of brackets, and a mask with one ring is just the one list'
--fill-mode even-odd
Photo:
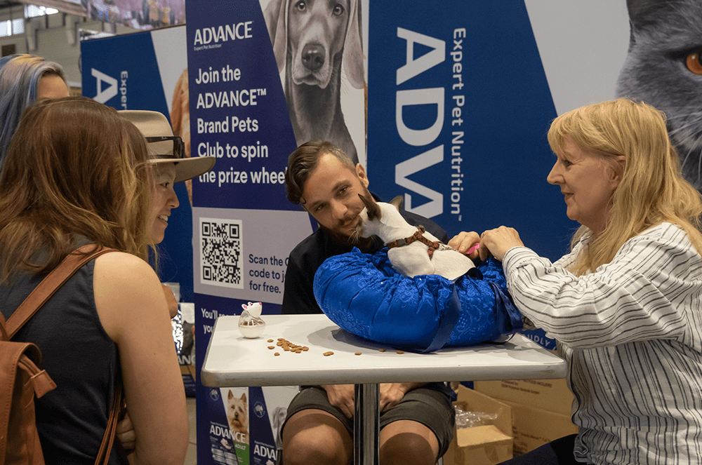
{"label": "black-and-white QR code printed on the ADVANCE banner", "polygon": [[243,289],[241,220],[200,218],[200,283]]}

